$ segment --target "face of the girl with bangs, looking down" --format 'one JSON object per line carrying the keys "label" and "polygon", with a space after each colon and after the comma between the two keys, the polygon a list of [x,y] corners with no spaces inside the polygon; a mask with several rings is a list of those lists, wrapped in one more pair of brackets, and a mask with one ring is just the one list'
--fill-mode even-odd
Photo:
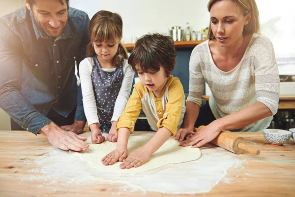
{"label": "face of the girl with bangs, looking down", "polygon": [[112,63],[118,51],[119,39],[110,42],[93,42],[94,51],[99,61]]}

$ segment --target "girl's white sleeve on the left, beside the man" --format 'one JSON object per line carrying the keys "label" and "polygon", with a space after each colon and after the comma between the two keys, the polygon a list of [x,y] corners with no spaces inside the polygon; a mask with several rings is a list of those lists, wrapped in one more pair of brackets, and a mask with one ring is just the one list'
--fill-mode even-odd
{"label": "girl's white sleeve on the left, beside the man", "polygon": [[92,71],[93,64],[90,58],[85,58],[79,65],[79,73],[81,80],[81,89],[83,96],[84,112],[88,121],[88,125],[98,123],[96,101],[92,86]]}

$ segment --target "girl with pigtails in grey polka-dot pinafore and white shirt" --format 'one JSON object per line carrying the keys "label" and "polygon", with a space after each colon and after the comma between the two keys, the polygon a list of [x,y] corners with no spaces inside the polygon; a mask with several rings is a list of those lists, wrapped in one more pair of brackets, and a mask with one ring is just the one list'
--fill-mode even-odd
{"label": "girl with pigtails in grey polka-dot pinafore and white shirt", "polygon": [[101,10],[89,24],[87,57],[79,66],[83,105],[92,143],[117,141],[115,126],[130,95],[134,72],[127,63],[127,51],[120,42],[122,19]]}

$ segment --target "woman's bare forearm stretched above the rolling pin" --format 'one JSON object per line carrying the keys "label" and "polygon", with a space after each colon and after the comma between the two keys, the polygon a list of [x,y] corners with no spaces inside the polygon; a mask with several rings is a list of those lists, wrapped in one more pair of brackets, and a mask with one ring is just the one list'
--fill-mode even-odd
{"label": "woman's bare forearm stretched above the rolling pin", "polygon": [[270,109],[262,102],[256,102],[234,114],[217,119],[221,130],[245,127],[261,119],[271,116]]}

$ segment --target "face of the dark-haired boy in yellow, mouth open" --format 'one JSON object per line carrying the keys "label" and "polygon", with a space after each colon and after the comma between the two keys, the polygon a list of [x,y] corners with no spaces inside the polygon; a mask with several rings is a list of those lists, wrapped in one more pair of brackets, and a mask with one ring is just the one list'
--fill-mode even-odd
{"label": "face of the dark-haired boy in yellow, mouth open", "polygon": [[160,70],[157,72],[143,72],[140,66],[136,65],[136,70],[142,84],[144,84],[148,90],[152,91],[155,96],[159,95],[167,82],[167,75],[164,67],[160,66]]}

